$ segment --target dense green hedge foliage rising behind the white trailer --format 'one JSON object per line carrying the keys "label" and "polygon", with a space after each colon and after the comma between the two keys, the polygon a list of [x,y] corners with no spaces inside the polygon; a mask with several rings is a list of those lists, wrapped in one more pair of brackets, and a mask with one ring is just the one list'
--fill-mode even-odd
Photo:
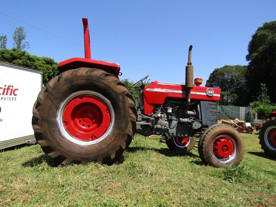
{"label": "dense green hedge foliage rising behind the white trailer", "polygon": [[58,63],[52,58],[38,57],[36,55],[30,55],[26,51],[13,48],[0,50],[0,61],[11,63],[15,65],[21,65],[28,68],[43,71],[43,83],[47,83],[53,77],[58,75]]}

